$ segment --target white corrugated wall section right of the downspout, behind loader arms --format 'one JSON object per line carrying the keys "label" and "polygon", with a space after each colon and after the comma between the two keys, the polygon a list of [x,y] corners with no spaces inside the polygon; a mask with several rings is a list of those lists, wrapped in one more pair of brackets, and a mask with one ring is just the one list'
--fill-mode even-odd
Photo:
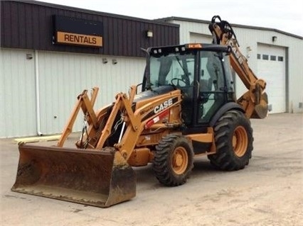
{"label": "white corrugated wall section right of the downspout, behind loader arms", "polygon": [[[107,59],[107,64],[102,59]],[[117,64],[112,64],[112,60]],[[76,55],[63,52],[38,52],[41,132],[61,132],[83,89],[100,88],[95,109],[112,101],[118,92],[127,92],[142,82],[143,58]],[[75,130],[82,127],[80,117]]]}

